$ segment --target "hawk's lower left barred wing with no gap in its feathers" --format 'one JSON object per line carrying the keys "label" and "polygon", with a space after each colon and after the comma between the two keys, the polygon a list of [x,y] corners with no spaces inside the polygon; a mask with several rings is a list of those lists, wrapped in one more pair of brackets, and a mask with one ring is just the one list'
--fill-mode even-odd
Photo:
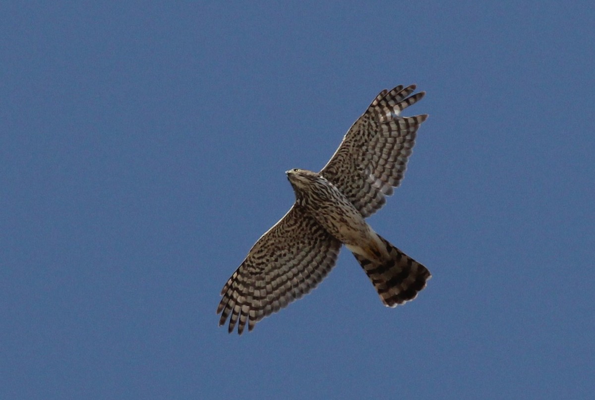
{"label": "hawk's lower left barred wing with no gap in its feathers", "polygon": [[217,307],[219,324],[231,314],[230,333],[238,319],[240,335],[247,320],[252,330],[262,318],[314,289],[334,267],[341,245],[294,204],[227,280]]}

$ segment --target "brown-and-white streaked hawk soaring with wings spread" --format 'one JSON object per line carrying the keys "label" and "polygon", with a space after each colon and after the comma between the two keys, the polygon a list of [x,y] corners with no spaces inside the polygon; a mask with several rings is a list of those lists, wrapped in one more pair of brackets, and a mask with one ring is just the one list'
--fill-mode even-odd
{"label": "brown-and-white streaked hawk soaring with wings spread", "polygon": [[412,300],[431,274],[365,221],[399,186],[427,114],[400,112],[424,97],[415,85],[383,90],[347,131],[319,173],[286,171],[296,201],[252,246],[221,290],[217,314],[241,335],[310,292],[333,268],[342,245],[353,253],[388,307]]}

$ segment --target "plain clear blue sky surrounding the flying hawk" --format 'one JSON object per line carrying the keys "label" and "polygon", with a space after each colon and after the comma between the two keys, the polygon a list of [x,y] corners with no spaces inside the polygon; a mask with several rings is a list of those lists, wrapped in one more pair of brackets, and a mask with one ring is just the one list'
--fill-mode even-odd
{"label": "plain clear blue sky surrounding the flying hawk", "polygon": [[[595,392],[592,1],[2,2],[0,398]],[[430,114],[369,218],[433,274],[383,307],[343,251],[238,336],[221,287],[381,90]]]}

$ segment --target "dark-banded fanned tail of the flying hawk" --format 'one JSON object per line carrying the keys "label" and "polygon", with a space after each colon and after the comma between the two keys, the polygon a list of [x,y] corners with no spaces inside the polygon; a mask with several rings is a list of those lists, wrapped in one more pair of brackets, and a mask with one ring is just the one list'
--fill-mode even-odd
{"label": "dark-banded fanned tail of the flying hawk", "polygon": [[386,246],[389,254],[387,260],[368,260],[362,255],[355,253],[353,255],[368,274],[382,302],[388,307],[396,307],[415,299],[432,275],[424,265],[394,247],[380,235],[378,237]]}

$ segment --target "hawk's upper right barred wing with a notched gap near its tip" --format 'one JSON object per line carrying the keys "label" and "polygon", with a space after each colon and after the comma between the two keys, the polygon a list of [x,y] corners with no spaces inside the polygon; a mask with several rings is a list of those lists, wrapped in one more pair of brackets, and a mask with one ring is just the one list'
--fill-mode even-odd
{"label": "hawk's upper right barred wing with a notched gap near its tip", "polygon": [[399,115],[424,97],[425,92],[409,96],[414,90],[411,85],[380,92],[320,171],[364,217],[380,209],[384,196],[399,186],[419,125],[428,117]]}

